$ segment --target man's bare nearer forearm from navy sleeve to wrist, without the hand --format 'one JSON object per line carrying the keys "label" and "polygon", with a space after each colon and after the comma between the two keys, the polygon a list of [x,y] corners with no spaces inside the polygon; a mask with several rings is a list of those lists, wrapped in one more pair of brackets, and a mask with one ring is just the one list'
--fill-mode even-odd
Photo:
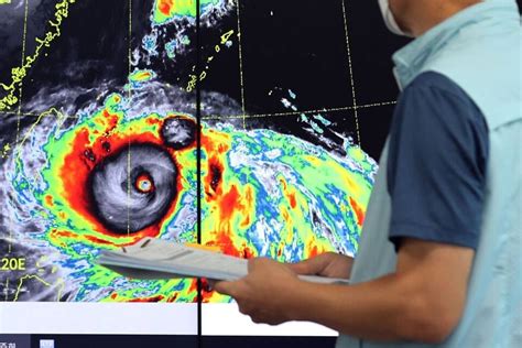
{"label": "man's bare nearer forearm from navy sleeve to wrist, without the hand", "polygon": [[407,239],[395,273],[354,286],[302,284],[290,311],[366,339],[439,342],[461,316],[472,257],[471,249]]}

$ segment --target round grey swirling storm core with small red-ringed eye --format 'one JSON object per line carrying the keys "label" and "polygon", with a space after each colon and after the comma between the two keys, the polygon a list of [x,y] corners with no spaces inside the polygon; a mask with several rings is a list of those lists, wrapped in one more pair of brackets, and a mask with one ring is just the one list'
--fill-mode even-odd
{"label": "round grey swirling storm core with small red-ringed eye", "polygon": [[93,211],[112,232],[138,232],[165,216],[177,196],[177,167],[154,144],[131,144],[90,173]]}

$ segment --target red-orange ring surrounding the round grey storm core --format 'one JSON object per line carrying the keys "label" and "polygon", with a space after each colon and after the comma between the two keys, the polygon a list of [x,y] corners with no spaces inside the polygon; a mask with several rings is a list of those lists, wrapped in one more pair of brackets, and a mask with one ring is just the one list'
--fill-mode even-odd
{"label": "red-orange ring surrounding the round grey storm core", "polygon": [[[97,164],[102,162],[107,156],[111,156],[119,151],[122,151],[129,146],[130,143],[152,143],[162,146],[162,140],[159,134],[152,132],[146,133],[134,133],[134,134],[122,134],[116,130],[118,127],[118,116],[110,115],[107,110],[102,113],[102,119],[96,119],[98,124],[106,126],[104,134],[100,134],[94,143],[89,140],[89,129],[84,127],[76,131],[70,149],[63,161],[63,166],[59,170],[59,177],[63,183],[63,196],[68,202],[69,206],[81,215],[88,222],[94,225],[95,230],[107,235],[111,238],[127,238],[127,235],[113,233],[104,225],[101,225],[93,209],[93,202],[88,189],[88,181],[91,171]],[[165,149],[174,160],[174,152]],[[178,191],[183,189],[181,181],[178,181]],[[175,209],[175,202],[173,202],[168,214],[165,218],[171,216]],[[133,233],[133,241],[126,242],[117,246],[124,246],[133,243],[144,237],[155,237],[160,232],[160,227],[163,221],[160,221],[156,226],[151,226],[142,231]],[[102,240],[94,236],[84,236],[85,239],[94,243],[109,243],[107,240]],[[101,237],[102,238],[102,237]]]}

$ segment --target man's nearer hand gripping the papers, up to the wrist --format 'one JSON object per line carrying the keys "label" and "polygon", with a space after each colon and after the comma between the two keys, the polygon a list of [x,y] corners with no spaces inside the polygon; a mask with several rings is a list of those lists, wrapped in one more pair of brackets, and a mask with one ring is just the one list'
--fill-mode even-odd
{"label": "man's nearer hand gripping the papers, up to the wrist", "polygon": [[249,261],[249,273],[233,282],[218,282],[215,290],[232,296],[239,312],[254,323],[278,325],[294,319],[289,303],[301,281],[285,264],[270,259]]}

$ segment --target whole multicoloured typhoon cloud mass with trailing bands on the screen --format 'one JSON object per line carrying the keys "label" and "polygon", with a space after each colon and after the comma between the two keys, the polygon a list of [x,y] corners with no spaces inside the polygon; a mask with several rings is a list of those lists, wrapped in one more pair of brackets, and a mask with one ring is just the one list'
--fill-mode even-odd
{"label": "whole multicoloured typhoon cloud mass with trailing bands on the screen", "polygon": [[[229,8],[202,1],[203,15]],[[195,243],[198,224],[204,246],[241,258],[357,252],[377,164],[350,139],[338,153],[267,127],[198,122],[180,111],[192,102],[181,88],[138,67],[170,50],[172,40],[156,37],[163,25],[194,15],[192,1],[155,1],[124,86],[80,90],[69,99],[87,101],[67,115],[37,106],[52,98],[45,90],[29,104],[39,117],[18,124],[0,162],[0,252],[26,259],[23,272],[0,273],[6,300],[195,302],[193,280],[126,279],[96,258],[145,237]],[[176,37],[181,59],[183,31]],[[209,96],[216,109],[237,105]],[[204,301],[229,298],[209,292]]]}

